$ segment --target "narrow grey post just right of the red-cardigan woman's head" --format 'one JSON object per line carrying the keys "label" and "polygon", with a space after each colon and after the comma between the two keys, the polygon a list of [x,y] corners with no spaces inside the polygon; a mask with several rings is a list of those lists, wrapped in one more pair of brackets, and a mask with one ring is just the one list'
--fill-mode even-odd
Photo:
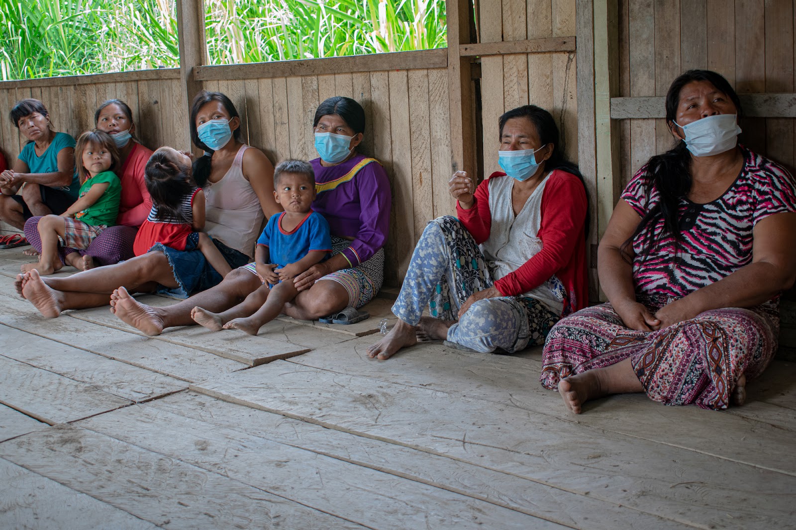
{"label": "narrow grey post just right of the red-cardigan woman's head", "polygon": [[583,173],[591,205],[591,230],[587,238],[589,299],[599,299],[597,281],[597,148],[595,140],[595,27],[592,0],[576,2],[578,61],[578,166]]}

